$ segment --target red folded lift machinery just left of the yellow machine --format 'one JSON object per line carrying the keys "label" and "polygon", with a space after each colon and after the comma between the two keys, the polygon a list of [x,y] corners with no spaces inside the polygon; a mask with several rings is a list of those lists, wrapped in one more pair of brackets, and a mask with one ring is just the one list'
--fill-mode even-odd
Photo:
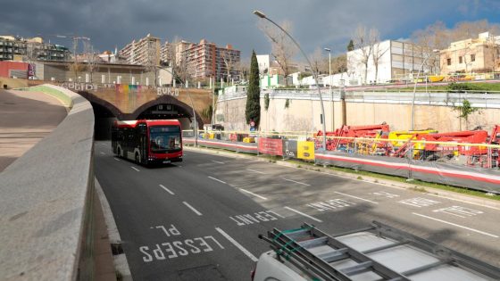
{"label": "red folded lift machinery just left of the yellow machine", "polygon": [[[340,147],[345,147],[346,145],[354,142],[354,137],[362,138],[387,138],[389,133],[389,125],[365,125],[365,126],[348,126],[342,125],[341,128],[337,128],[335,132],[327,132],[326,136],[330,138],[327,140],[327,150],[337,150]],[[320,130],[316,136],[323,136],[323,132]],[[317,140],[316,145],[321,146],[321,140]]]}

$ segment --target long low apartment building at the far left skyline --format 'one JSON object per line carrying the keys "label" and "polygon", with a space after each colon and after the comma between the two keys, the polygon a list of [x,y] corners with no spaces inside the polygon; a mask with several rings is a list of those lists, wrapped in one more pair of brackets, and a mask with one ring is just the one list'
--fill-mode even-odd
{"label": "long low apartment building at the far left skyline", "polygon": [[41,37],[0,36],[0,61],[68,61],[70,50],[63,45],[46,44]]}

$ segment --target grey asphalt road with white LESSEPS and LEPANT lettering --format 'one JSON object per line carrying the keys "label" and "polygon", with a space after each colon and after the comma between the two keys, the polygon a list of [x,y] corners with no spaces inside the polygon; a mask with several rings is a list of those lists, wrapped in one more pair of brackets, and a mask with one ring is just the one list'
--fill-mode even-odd
{"label": "grey asphalt road with white LESSEPS and LEPANT lettering", "polygon": [[500,267],[500,209],[266,161],[187,150],[148,169],[96,142],[96,178],[134,280],[246,280],[272,227],[331,234],[376,219]]}

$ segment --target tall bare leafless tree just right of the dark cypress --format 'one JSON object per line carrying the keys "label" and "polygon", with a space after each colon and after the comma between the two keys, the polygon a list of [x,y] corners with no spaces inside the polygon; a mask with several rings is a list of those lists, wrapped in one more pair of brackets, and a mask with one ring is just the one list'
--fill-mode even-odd
{"label": "tall bare leafless tree just right of the dark cypress", "polygon": [[[289,21],[283,21],[280,24],[281,28],[290,33],[292,24]],[[278,29],[267,21],[260,21],[259,28],[271,41],[272,56],[278,62],[279,69],[283,71],[285,76],[285,86],[288,86],[288,75],[292,71],[292,58],[296,54],[296,45],[287,37],[285,32]]]}

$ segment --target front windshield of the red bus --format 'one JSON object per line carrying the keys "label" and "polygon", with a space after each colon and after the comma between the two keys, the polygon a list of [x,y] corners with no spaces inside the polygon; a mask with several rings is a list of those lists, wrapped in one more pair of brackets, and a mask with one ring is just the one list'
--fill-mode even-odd
{"label": "front windshield of the red bus", "polygon": [[149,128],[152,153],[170,153],[180,150],[179,126],[152,126]]}

